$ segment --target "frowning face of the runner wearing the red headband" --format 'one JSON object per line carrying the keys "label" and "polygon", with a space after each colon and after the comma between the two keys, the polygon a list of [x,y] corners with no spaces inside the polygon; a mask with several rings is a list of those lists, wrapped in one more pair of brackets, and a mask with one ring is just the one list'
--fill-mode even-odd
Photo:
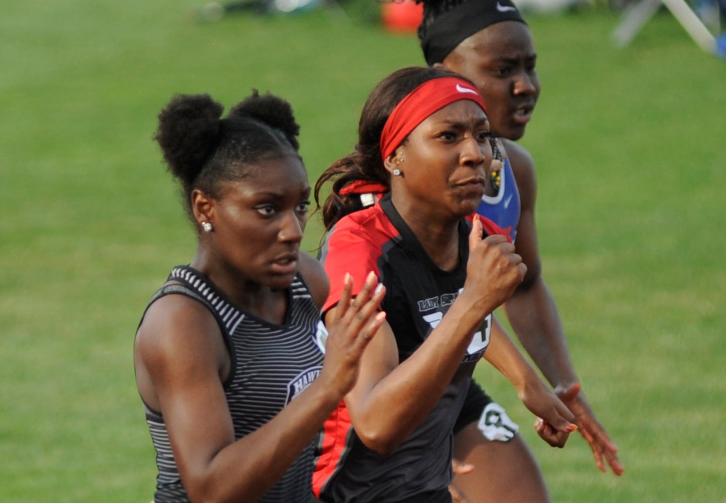
{"label": "frowning face of the runner wearing the red headband", "polygon": [[492,163],[490,137],[484,110],[468,99],[429,115],[397,149],[406,197],[426,213],[473,213]]}

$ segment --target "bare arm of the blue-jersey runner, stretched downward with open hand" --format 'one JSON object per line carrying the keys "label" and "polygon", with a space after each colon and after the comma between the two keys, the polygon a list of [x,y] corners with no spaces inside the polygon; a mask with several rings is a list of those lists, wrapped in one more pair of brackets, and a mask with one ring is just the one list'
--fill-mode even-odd
{"label": "bare arm of the blue-jersey runner, stretched downward with open hand", "polygon": [[527,266],[523,282],[505,303],[507,318],[529,356],[575,414],[576,424],[590,443],[597,466],[605,471],[604,458],[613,473],[621,475],[624,468],[617,457],[617,446],[597,421],[580,390],[555,300],[542,278],[535,226],[537,181],[534,162],[521,145],[508,140],[504,142],[522,204],[516,250]]}

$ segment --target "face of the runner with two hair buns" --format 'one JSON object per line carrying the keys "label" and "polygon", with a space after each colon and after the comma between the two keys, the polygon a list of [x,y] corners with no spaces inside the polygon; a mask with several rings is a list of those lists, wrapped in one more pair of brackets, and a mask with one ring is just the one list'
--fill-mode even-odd
{"label": "face of the runner with two hair buns", "polygon": [[250,168],[225,182],[213,202],[213,239],[221,261],[250,282],[290,286],[310,204],[303,163],[293,155]]}

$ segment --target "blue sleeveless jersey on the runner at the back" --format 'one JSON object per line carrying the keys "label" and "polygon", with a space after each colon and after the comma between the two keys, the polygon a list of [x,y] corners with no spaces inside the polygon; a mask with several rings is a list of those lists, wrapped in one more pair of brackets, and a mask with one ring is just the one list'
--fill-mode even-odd
{"label": "blue sleeveless jersey on the runner at the back", "polygon": [[502,228],[507,237],[514,242],[517,237],[517,224],[521,212],[519,190],[512,172],[512,165],[509,163],[509,158],[500,140],[497,140],[497,146],[503,156],[499,191],[497,195],[484,195],[481,197],[481,203],[476,208],[476,213],[494,221],[495,224]]}

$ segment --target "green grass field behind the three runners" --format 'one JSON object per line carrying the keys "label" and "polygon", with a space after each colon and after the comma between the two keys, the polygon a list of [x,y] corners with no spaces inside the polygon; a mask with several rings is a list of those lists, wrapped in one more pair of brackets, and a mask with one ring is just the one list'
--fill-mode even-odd
{"label": "green grass field behind the three runners", "polygon": [[[360,0],[364,1],[364,0]],[[373,0],[368,0],[373,2]],[[152,448],[131,363],[147,299],[194,234],[151,140],[175,92],[290,100],[311,181],[351,149],[360,108],[415,37],[371,4],[191,23],[195,0],[7,0],[0,16],[0,502],[148,502]],[[364,8],[361,8],[364,7]],[[529,16],[544,92],[544,274],[576,368],[621,449],[548,448],[513,388],[556,502],[726,501],[726,61],[667,12],[627,49],[604,7]],[[305,247],[320,237],[317,216]]]}

